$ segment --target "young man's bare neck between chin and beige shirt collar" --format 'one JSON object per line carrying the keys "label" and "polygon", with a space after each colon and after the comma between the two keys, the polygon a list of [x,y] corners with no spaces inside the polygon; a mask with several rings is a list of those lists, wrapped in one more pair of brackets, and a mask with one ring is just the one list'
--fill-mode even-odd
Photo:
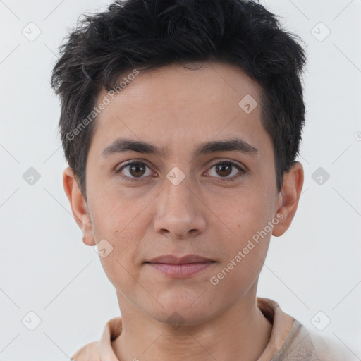
{"label": "young man's bare neck between chin and beige shirt collar", "polygon": [[118,300],[123,329],[112,347],[121,361],[255,361],[271,336],[272,325],[257,307],[255,292],[214,319],[179,328],[130,307],[121,295]]}

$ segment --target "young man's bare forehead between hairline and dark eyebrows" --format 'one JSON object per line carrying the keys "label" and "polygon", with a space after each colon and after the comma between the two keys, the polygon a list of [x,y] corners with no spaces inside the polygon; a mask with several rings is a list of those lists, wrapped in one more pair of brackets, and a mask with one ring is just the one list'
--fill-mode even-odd
{"label": "young man's bare forehead between hairline and dark eyebrows", "polygon": [[[97,116],[92,141],[97,154],[117,137],[147,140],[169,155],[236,133],[255,147],[267,138],[260,88],[239,68],[204,63],[139,72],[113,97],[105,90],[99,94],[98,104],[104,97],[110,102]],[[127,74],[120,81],[124,78]],[[254,109],[249,112],[245,103]]]}

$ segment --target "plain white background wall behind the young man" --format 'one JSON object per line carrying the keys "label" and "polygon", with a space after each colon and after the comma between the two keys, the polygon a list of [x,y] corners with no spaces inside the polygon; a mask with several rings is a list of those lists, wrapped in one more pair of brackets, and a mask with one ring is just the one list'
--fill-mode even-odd
{"label": "plain white background wall behind the young man", "polygon": [[[0,360],[67,360],[120,315],[63,192],[59,99],[49,85],[68,28],[108,4],[0,0]],[[305,184],[290,229],[271,238],[258,295],[360,360],[361,1],[262,4],[304,39],[308,66]],[[34,42],[22,34],[30,22],[42,31]],[[326,34],[319,22],[331,31],[323,41],[314,37]],[[34,185],[23,179],[30,167],[41,175]],[[322,185],[312,179],[319,167],[330,175]],[[42,321],[34,331],[22,323],[30,311]],[[319,311],[331,319],[323,331],[311,323]]]}

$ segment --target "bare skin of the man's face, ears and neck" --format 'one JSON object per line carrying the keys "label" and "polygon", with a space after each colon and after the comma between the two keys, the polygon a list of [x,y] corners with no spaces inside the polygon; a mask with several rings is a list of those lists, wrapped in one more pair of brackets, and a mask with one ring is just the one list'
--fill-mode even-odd
{"label": "bare skin of the man's face, ears and neck", "polygon": [[[102,90],[99,102],[105,94]],[[121,336],[112,341],[119,360],[251,361],[269,342],[271,324],[257,307],[257,282],[271,235],[282,235],[295,215],[303,169],[296,162],[277,192],[274,150],[260,106],[250,114],[238,106],[246,94],[260,104],[257,83],[223,63],[141,72],[97,118],[87,159],[87,202],[71,169],[63,172],[84,243],[93,246],[105,238],[113,247],[100,259],[123,318]],[[168,154],[127,152],[104,159],[103,149],[118,137],[164,147]],[[233,137],[259,153],[192,155],[200,143]],[[224,160],[247,172],[239,178],[234,167],[229,175],[217,172],[215,165]],[[134,182],[114,173],[127,161],[147,166],[140,173],[123,169]],[[185,175],[178,185],[166,178],[175,166]],[[277,214],[283,219],[212,285],[209,279]],[[166,254],[197,254],[216,262],[183,279],[144,263]],[[169,324],[174,312],[183,322],[177,329]]]}

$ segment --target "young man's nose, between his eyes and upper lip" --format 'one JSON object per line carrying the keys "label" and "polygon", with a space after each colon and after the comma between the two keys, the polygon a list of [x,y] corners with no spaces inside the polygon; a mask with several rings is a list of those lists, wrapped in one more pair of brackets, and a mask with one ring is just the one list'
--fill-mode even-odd
{"label": "young man's nose, between his eyes and upper lip", "polygon": [[157,214],[154,229],[169,238],[185,239],[200,234],[206,228],[206,211],[187,177],[178,185],[168,179],[157,197]]}

